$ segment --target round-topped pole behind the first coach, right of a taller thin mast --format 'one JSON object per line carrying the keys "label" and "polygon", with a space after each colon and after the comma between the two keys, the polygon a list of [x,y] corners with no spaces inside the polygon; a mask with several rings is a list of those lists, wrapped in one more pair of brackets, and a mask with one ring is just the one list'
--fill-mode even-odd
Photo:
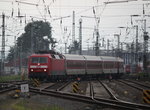
{"label": "round-topped pole behind the first coach, right of a taller thin mast", "polygon": [[79,54],[82,55],[82,19],[79,20]]}

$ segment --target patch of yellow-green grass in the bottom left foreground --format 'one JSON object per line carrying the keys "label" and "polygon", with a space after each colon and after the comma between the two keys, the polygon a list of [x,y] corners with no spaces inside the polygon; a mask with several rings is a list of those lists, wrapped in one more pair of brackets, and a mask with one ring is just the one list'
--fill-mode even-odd
{"label": "patch of yellow-green grass in the bottom left foreground", "polygon": [[[9,105],[8,105],[9,103]],[[0,110],[64,110],[57,105],[47,105],[28,99],[7,99],[0,102]]]}

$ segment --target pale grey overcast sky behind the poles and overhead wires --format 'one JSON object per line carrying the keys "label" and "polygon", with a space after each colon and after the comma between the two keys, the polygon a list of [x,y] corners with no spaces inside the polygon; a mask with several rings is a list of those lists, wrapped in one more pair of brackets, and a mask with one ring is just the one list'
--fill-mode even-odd
{"label": "pale grey overcast sky behind the poles and overhead wires", "polygon": [[[96,17],[100,17],[99,32],[100,39],[110,39],[112,44],[116,46],[117,38],[114,34],[120,34],[121,42],[135,41],[135,29],[133,25],[139,26],[139,39],[142,42],[142,20],[143,4],[145,15],[150,15],[150,1],[130,1],[124,3],[110,3],[114,0],[0,0],[0,15],[5,13],[6,17],[6,51],[9,50],[9,46],[14,45],[14,36],[19,37],[23,33],[25,27],[25,17],[20,19],[18,16],[18,10],[20,15],[26,15],[26,22],[33,20],[44,20],[50,22],[53,28],[53,37],[59,42],[57,46],[58,51],[64,51],[64,43],[67,42],[67,46],[72,41],[72,13],[75,11],[75,38],[79,37],[79,19],[82,18],[82,37],[83,37],[83,49],[87,49],[88,45],[93,46],[95,37],[93,37],[94,27],[96,25],[94,12]],[[124,1],[124,0],[116,0]],[[30,3],[30,4],[28,4]],[[36,6],[38,5],[38,6]],[[46,12],[45,7],[49,7],[50,14]],[[94,7],[94,8],[93,8]],[[48,8],[47,8],[48,9]],[[12,16],[13,12],[13,16]],[[133,17],[133,24],[131,25],[131,15],[141,15],[141,17]],[[86,17],[81,17],[86,16]],[[61,19],[62,17],[62,19]],[[89,18],[91,17],[91,18]],[[147,27],[150,27],[150,18],[145,17],[147,20]],[[0,25],[2,24],[2,18],[0,17]],[[120,29],[118,27],[126,27]],[[67,31],[64,31],[67,28]],[[0,28],[1,30],[1,28]],[[147,28],[149,31],[149,28]],[[129,33],[129,34],[128,34]],[[1,32],[0,32],[1,34]],[[69,36],[69,37],[68,37]],[[1,42],[1,37],[0,37]],[[100,41],[101,42],[101,41]],[[0,43],[1,45],[1,43]],[[103,48],[103,47],[101,47]],[[1,48],[0,48],[1,50]]]}

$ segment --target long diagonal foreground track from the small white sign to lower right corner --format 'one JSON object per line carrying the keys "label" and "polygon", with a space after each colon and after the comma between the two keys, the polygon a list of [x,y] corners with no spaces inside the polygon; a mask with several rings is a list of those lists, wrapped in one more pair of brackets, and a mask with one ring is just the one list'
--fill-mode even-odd
{"label": "long diagonal foreground track from the small white sign to lower right corner", "polygon": [[42,95],[48,95],[48,96],[54,96],[54,97],[59,97],[59,98],[64,98],[64,99],[70,99],[70,100],[77,100],[85,103],[90,103],[90,104],[97,104],[97,105],[102,105],[105,107],[112,107],[112,108],[117,108],[117,109],[125,109],[125,110],[139,110],[139,109],[150,109],[149,105],[143,105],[143,104],[135,104],[135,103],[130,103],[130,102],[125,102],[125,101],[120,101],[116,100],[115,98],[113,99],[104,99],[104,98],[97,98],[94,95],[94,90],[93,86],[90,83],[90,96],[85,96],[81,94],[74,94],[74,93],[66,93],[63,91],[58,91],[57,89],[50,90],[50,89],[37,89],[30,87],[30,91]]}

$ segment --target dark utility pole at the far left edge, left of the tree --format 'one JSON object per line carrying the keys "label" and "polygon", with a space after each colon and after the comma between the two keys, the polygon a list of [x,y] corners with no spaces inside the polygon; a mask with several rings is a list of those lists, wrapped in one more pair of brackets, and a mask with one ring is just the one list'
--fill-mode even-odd
{"label": "dark utility pole at the far left edge, left of the tree", "polygon": [[5,14],[2,13],[2,51],[1,51],[1,73],[4,73],[5,61]]}

